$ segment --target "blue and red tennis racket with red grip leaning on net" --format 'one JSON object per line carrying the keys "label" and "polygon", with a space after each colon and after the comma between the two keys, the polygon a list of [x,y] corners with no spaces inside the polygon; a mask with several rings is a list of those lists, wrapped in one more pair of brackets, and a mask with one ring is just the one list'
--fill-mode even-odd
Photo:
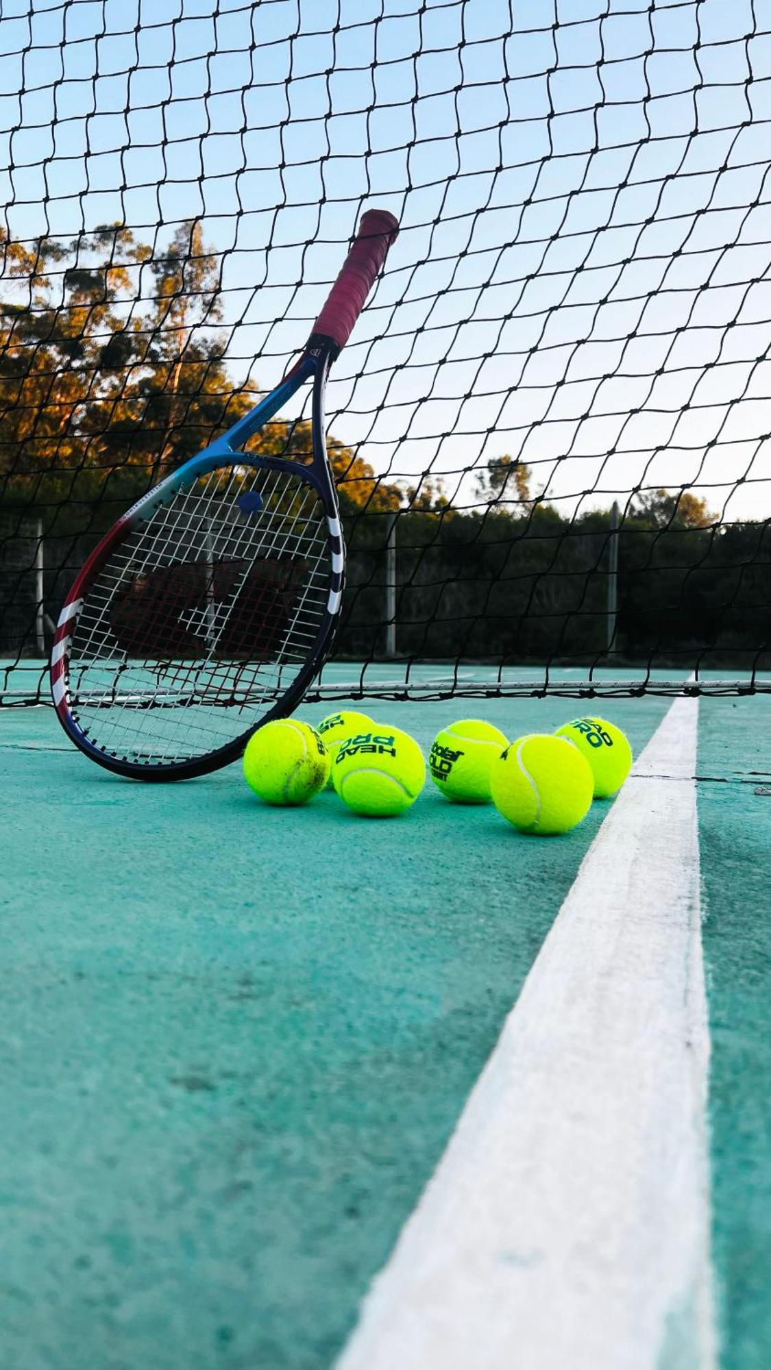
{"label": "blue and red tennis racket with red grip leaning on net", "polygon": [[[56,626],[51,689],[64,732],[107,770],[140,780],[217,770],[318,674],[344,574],[324,390],[396,233],[392,214],[362,215],[299,362],[128,510],[80,571]],[[306,382],[310,462],[244,452]]]}

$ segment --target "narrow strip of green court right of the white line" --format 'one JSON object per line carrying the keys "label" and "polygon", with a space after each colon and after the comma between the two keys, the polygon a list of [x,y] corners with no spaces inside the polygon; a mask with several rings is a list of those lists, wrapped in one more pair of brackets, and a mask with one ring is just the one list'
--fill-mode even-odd
{"label": "narrow strip of green court right of the white line", "polygon": [[771,1365],[771,700],[702,704],[713,1262],[726,1370]]}

